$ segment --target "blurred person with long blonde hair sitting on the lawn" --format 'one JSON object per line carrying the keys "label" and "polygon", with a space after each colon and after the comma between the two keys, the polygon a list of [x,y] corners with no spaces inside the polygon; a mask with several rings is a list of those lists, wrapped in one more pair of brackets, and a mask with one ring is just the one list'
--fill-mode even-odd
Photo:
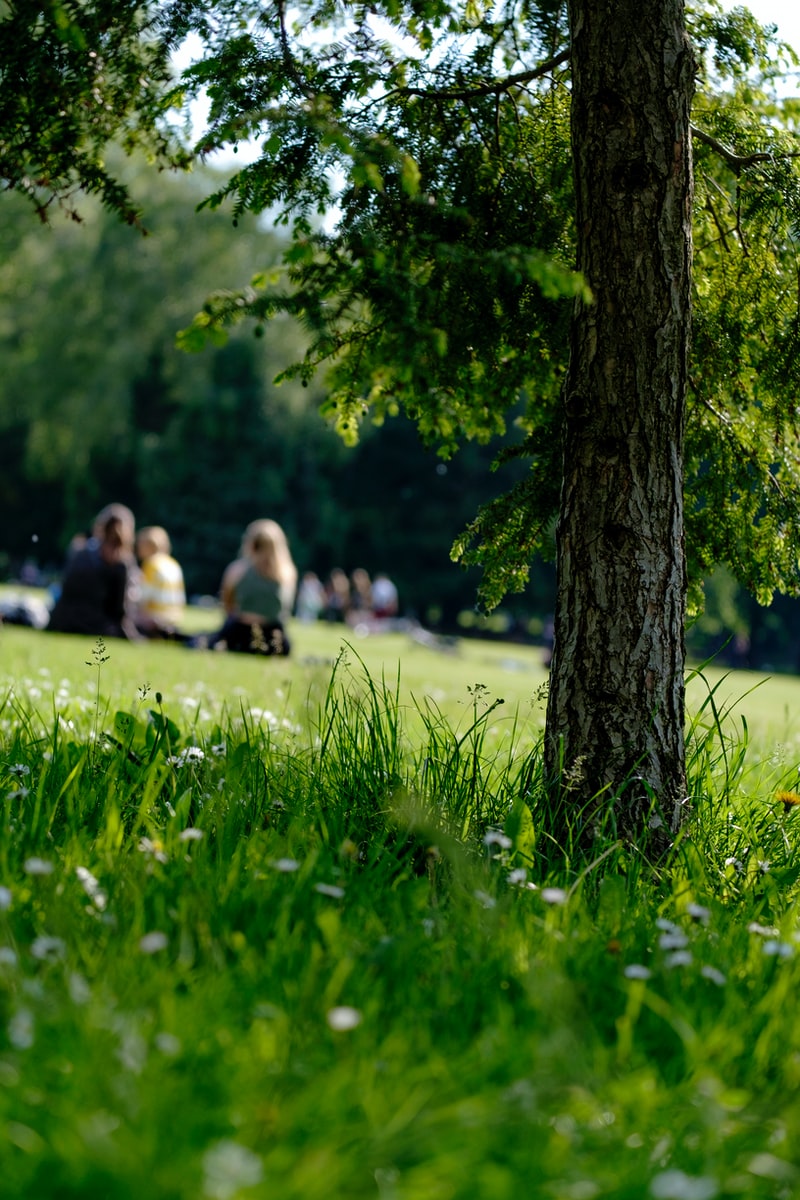
{"label": "blurred person with long blonde hair sitting on the lawn", "polygon": [[297,588],[285,534],[276,521],[247,526],[240,557],[225,568],[221,596],[228,613],[209,646],[240,654],[288,654],[287,618]]}

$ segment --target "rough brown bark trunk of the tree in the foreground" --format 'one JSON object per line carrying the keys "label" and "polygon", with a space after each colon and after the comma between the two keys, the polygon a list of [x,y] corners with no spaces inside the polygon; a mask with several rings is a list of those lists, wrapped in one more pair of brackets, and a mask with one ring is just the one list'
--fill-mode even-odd
{"label": "rough brown bark trunk of the tree in the foreground", "polygon": [[573,313],[564,395],[547,767],[584,841],[612,808],[625,836],[660,817],[663,842],[686,788],[694,59],[682,0],[569,7],[578,268],[594,302]]}

